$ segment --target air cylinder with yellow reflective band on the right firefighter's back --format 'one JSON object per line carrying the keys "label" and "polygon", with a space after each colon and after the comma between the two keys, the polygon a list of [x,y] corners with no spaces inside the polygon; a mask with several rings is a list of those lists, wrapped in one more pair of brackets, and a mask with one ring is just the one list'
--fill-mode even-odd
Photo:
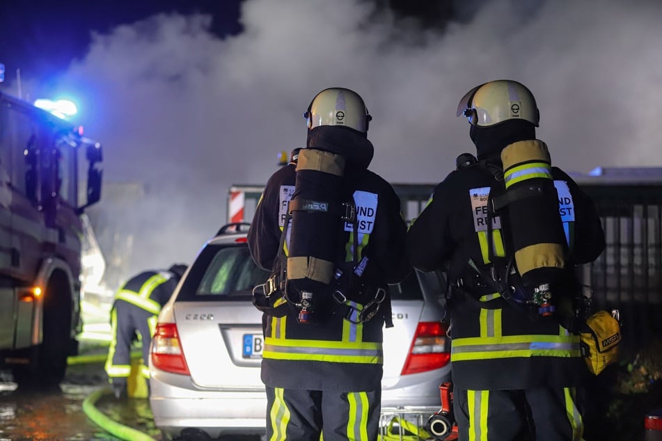
{"label": "air cylinder with yellow reflective band on the right firefighter's back", "polygon": [[566,241],[551,159],[542,141],[519,141],[501,152],[515,264],[525,286],[553,284],[565,267]]}

